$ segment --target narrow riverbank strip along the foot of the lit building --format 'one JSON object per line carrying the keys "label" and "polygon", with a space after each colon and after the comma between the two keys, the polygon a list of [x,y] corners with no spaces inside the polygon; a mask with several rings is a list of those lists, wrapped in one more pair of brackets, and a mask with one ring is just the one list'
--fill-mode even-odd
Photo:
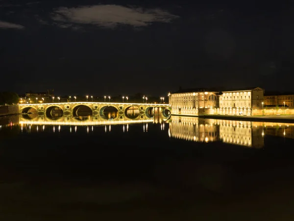
{"label": "narrow riverbank strip along the foot of the lit building", "polygon": [[279,123],[294,123],[294,115],[268,115],[268,116],[231,116],[231,115],[189,115],[189,114],[171,114],[172,116],[187,116],[199,118],[211,118],[222,120],[244,120],[244,121],[259,121],[259,122],[279,122]]}

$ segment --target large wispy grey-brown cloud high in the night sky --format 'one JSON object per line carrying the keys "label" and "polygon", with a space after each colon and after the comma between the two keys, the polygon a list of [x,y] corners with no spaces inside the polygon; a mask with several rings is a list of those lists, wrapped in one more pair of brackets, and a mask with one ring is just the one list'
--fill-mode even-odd
{"label": "large wispy grey-brown cloud high in the night sky", "polygon": [[54,21],[62,23],[59,26],[61,28],[69,28],[71,23],[92,24],[106,28],[113,28],[119,24],[143,27],[154,22],[169,23],[175,18],[178,16],[158,8],[129,8],[122,5],[60,7],[52,15]]}

